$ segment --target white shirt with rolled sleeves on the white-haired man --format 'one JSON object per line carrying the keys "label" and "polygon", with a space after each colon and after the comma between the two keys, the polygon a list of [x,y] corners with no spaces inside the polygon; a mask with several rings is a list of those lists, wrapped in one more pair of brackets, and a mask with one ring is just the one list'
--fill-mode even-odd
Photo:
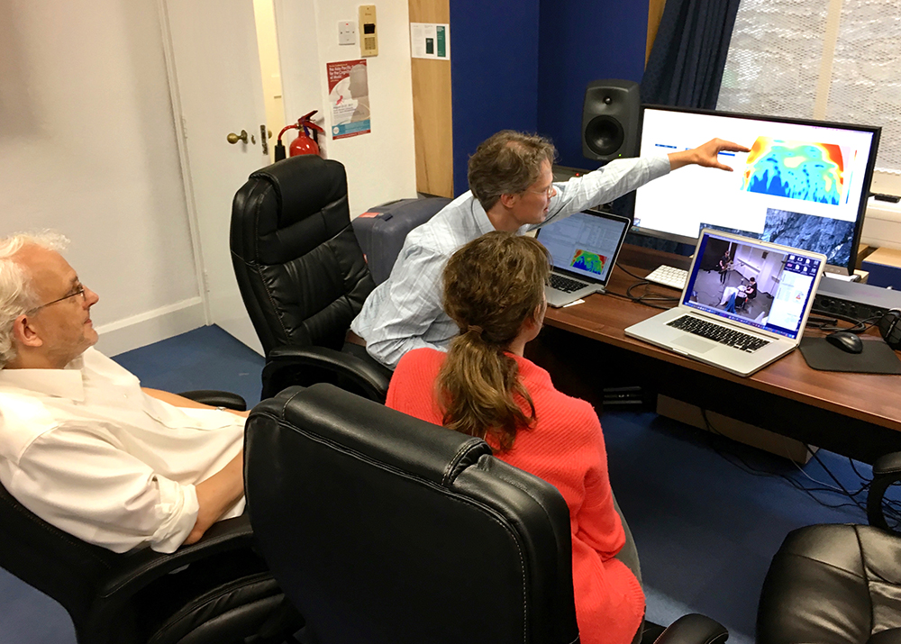
{"label": "white shirt with rolled sleeves on the white-haired man", "polygon": [[[62,369],[0,369],[0,481],[41,519],[115,552],[173,552],[194,484],[241,449],[244,419],[175,407],[96,349]],[[223,519],[243,512],[244,499]]]}

